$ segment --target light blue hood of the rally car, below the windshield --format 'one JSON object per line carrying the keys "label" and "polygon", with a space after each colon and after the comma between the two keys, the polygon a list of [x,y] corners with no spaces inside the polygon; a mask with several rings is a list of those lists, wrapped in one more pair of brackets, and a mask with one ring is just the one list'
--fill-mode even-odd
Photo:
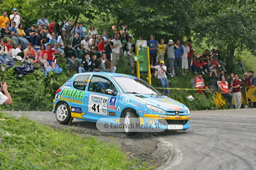
{"label": "light blue hood of the rally car, below the windshield", "polygon": [[143,101],[146,104],[159,107],[164,111],[180,111],[186,112],[186,106],[172,98],[163,95],[144,95],[144,94],[130,94],[137,101]]}

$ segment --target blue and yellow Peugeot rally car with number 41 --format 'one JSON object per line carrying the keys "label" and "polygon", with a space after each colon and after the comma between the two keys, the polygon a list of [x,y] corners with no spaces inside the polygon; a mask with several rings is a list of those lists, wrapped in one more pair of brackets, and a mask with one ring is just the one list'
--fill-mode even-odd
{"label": "blue and yellow Peugeot rally car with number 41", "polygon": [[[185,105],[163,96],[146,81],[106,72],[75,74],[56,91],[53,113],[58,122],[65,125],[73,118],[91,122],[112,118],[113,123],[120,118],[124,123],[138,118],[141,124],[160,123],[163,130],[186,130],[191,120]],[[136,134],[126,127],[124,131],[127,135]]]}

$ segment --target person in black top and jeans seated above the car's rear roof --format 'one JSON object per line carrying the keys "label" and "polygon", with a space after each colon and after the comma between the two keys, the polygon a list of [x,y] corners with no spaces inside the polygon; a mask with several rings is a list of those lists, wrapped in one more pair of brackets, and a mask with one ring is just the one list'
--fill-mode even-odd
{"label": "person in black top and jeans seated above the car's rear roof", "polygon": [[70,63],[70,66],[68,67],[68,69],[69,70],[72,69],[73,65],[75,64],[74,60],[78,62],[78,68],[79,68],[82,60],[75,57],[75,52],[72,49],[70,42],[67,43],[67,46],[65,47],[64,52],[65,52],[65,59],[68,60],[68,62]]}

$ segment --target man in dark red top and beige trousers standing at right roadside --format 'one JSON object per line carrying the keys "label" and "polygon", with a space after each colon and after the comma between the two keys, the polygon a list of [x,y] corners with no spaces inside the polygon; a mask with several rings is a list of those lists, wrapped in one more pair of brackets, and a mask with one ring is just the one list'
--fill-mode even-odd
{"label": "man in dark red top and beige trousers standing at right roadside", "polygon": [[235,101],[235,108],[241,108],[241,104],[242,104],[242,96],[241,96],[240,86],[242,86],[242,82],[240,81],[238,74],[235,74],[235,79],[231,82],[233,98]]}

